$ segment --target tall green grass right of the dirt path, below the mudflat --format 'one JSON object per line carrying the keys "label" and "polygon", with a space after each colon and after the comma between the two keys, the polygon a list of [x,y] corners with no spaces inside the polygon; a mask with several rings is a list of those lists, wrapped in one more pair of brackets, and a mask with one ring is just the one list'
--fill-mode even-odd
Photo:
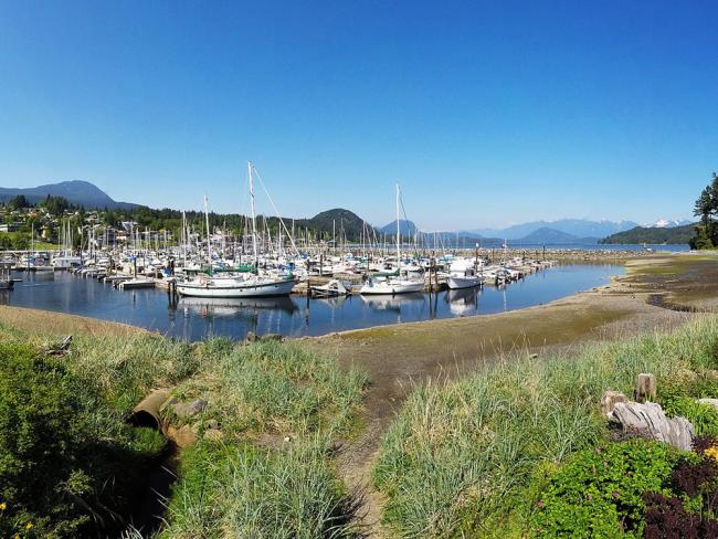
{"label": "tall green grass right of the dirt path, below the mudflat", "polygon": [[631,394],[718,367],[718,318],[668,335],[590,345],[566,357],[506,358],[458,382],[418,385],[373,469],[383,518],[400,537],[526,533],[537,476],[606,436],[604,390]]}

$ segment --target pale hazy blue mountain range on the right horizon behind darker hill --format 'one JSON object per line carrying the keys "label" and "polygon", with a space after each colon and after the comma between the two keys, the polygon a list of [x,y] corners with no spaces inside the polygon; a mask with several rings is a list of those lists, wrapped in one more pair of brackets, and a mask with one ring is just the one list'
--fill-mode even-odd
{"label": "pale hazy blue mountain range on the right horizon behind darker hill", "polygon": [[[532,221],[529,223],[515,224],[506,229],[475,229],[465,233],[475,233],[485,236],[504,237],[506,240],[524,240],[529,234],[540,229],[551,229],[577,239],[604,237],[617,232],[638,226],[633,221],[589,221],[585,219],[561,219],[559,221]],[[542,242],[541,242],[542,243]],[[572,243],[572,242],[571,242]]]}

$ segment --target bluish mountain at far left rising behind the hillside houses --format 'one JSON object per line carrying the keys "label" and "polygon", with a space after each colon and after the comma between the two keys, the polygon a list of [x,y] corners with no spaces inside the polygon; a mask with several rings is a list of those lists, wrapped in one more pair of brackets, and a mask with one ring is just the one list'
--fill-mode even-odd
{"label": "bluish mountain at far left rising behind the hillside houses", "polygon": [[129,202],[116,202],[107,193],[88,181],[61,181],[46,186],[32,187],[27,189],[0,188],[0,202],[6,202],[13,197],[24,195],[28,202],[36,203],[45,199],[47,194],[64,197],[73,204],[84,205],[86,209],[120,209],[130,210],[138,204]]}

